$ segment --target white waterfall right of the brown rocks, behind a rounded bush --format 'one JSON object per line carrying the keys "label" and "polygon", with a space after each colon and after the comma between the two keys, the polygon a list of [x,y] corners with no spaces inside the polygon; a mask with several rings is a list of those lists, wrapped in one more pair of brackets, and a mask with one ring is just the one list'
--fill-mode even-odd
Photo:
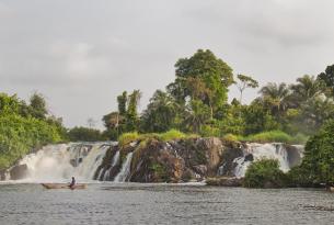
{"label": "white waterfall right of the brown rocks, behind a rounded bush", "polygon": [[244,156],[238,157],[233,160],[233,162],[237,165],[234,168],[234,176],[239,178],[244,177],[245,171],[252,161],[256,161],[262,158],[277,159],[279,162],[279,168],[284,172],[287,172],[292,166],[296,166],[300,162],[303,155],[302,146],[291,147],[293,151],[288,150],[284,144],[279,143],[247,144],[246,148],[244,149]]}

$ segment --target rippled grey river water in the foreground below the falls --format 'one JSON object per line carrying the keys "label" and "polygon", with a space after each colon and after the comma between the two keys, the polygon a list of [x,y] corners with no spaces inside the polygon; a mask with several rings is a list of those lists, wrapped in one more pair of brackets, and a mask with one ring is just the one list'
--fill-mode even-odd
{"label": "rippled grey river water in the foreground below the falls", "polygon": [[198,184],[0,184],[0,224],[334,224],[334,194]]}

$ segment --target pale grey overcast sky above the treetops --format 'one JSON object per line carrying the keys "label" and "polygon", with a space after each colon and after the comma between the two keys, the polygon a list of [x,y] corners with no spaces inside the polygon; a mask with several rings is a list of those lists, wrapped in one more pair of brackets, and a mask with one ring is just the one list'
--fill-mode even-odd
{"label": "pale grey overcast sky above the treetops", "polygon": [[65,125],[102,128],[116,95],[140,89],[143,110],[198,48],[260,85],[293,82],[334,64],[333,11],[333,0],[0,0],[0,92],[41,92]]}

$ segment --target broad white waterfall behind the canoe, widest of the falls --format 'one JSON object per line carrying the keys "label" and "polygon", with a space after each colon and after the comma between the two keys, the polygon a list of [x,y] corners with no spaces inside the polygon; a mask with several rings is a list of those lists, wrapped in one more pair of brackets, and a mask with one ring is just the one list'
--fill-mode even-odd
{"label": "broad white waterfall behind the canoe, widest of the falls", "polygon": [[112,145],[113,143],[48,145],[25,156],[19,165],[26,165],[24,179],[27,181],[61,182],[71,177],[92,180]]}

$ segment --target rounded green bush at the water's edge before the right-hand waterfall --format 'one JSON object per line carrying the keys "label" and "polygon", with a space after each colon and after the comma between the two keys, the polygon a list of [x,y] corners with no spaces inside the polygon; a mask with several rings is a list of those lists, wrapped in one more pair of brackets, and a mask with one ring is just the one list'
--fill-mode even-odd
{"label": "rounded green bush at the water's edge before the right-hand waterfall", "polygon": [[279,169],[277,159],[254,161],[246,170],[245,188],[283,188],[288,183],[287,176]]}

